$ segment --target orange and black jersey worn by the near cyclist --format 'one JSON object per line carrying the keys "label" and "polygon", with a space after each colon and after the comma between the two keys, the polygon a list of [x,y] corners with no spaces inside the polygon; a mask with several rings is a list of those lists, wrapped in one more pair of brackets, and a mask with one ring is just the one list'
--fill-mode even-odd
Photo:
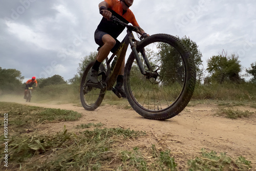
{"label": "orange and black jersey worn by the near cyclist", "polygon": [[[123,11],[121,2],[118,0],[105,0],[108,3],[109,8],[108,10],[112,12],[112,15],[119,18],[122,22],[129,24],[131,23],[133,26],[139,27],[136,18],[133,12],[128,9],[126,12]],[[117,23],[111,22],[106,18],[102,18],[100,24],[98,25],[97,29],[103,31],[105,33],[110,34],[113,38],[117,38],[119,34],[122,33],[124,30],[124,26],[121,26]]]}

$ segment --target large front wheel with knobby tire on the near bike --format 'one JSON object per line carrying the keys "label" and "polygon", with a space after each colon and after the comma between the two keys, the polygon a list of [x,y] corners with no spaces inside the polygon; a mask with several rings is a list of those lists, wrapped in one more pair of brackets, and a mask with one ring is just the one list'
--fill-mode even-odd
{"label": "large front wheel with knobby tire on the near bike", "polygon": [[156,34],[137,44],[145,50],[151,63],[148,69],[139,53],[145,70],[142,75],[133,52],[124,71],[124,89],[132,108],[148,119],[165,120],[178,115],[193,95],[196,84],[195,63],[189,51],[174,36]]}

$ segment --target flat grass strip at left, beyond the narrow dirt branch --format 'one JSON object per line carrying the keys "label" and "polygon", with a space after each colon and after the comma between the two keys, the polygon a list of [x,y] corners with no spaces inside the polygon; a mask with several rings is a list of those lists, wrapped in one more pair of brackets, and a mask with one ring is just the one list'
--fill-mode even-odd
{"label": "flat grass strip at left, beyond the narrow dirt branch", "polygon": [[[12,102],[0,102],[1,117],[8,113],[8,125],[14,131],[21,128],[33,127],[42,122],[75,121],[81,114],[70,110],[41,108]],[[3,125],[4,121],[0,123]]]}

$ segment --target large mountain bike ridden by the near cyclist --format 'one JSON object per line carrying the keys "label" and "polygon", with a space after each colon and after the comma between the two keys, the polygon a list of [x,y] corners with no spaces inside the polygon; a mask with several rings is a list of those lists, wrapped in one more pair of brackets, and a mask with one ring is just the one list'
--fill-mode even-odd
{"label": "large mountain bike ridden by the near cyclist", "polygon": [[[127,47],[132,52],[124,69],[124,90],[132,108],[148,119],[165,120],[178,115],[188,104],[196,84],[196,68],[190,52],[181,40],[168,34],[145,36],[137,27],[115,16],[112,22],[127,29],[119,49],[101,63],[98,83],[89,80],[94,62],[86,67],[80,84],[84,109],[93,111],[101,104],[105,92],[113,90]],[[136,40],[135,32],[140,40]],[[119,54],[119,55],[117,55]],[[117,56],[114,67],[113,58]],[[114,68],[113,71],[111,68]]]}

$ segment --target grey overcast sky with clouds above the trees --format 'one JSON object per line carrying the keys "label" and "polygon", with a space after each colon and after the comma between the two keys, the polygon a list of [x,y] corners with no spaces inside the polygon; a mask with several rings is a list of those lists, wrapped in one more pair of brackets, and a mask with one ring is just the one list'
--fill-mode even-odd
{"label": "grey overcast sky with clouds above the trees", "polygon": [[[100,2],[0,0],[0,67],[19,70],[25,80],[72,78],[81,58],[98,47]],[[223,49],[238,54],[243,68],[256,62],[255,0],[134,0],[130,9],[150,35],[190,37],[202,52],[204,68]]]}

